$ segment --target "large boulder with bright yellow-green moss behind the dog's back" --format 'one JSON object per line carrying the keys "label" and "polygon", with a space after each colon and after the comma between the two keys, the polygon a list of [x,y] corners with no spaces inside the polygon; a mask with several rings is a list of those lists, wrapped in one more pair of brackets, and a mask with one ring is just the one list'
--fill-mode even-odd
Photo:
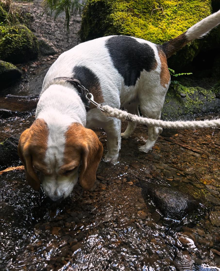
{"label": "large boulder with bright yellow-green moss behind the dog's back", "polygon": [[[88,0],[80,37],[86,41],[126,35],[162,44],[210,15],[211,11],[211,0]],[[177,63],[171,59],[171,67],[190,62],[202,42],[196,40],[185,46],[175,57]]]}

